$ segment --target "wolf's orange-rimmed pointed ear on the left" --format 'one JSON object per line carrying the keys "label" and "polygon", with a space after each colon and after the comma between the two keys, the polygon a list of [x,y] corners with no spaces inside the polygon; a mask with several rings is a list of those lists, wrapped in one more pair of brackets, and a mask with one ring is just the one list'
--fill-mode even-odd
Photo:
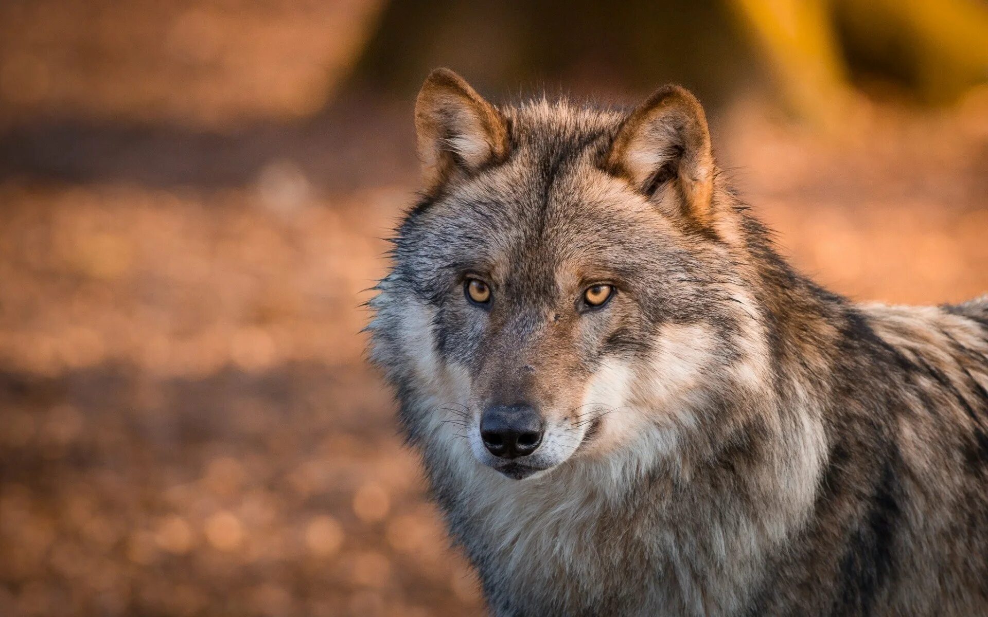
{"label": "wolf's orange-rimmed pointed ear on the left", "polygon": [[508,124],[448,68],[429,74],[415,101],[422,179],[427,192],[508,155]]}

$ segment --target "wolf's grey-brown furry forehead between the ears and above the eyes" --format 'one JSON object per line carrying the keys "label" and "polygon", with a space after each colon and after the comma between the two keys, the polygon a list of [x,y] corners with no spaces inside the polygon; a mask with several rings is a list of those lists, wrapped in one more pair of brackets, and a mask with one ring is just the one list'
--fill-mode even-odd
{"label": "wolf's grey-brown furry forehead between the ears and above the eyes", "polygon": [[435,246],[425,253],[443,265],[542,281],[567,266],[626,264],[643,239],[627,230],[644,231],[655,216],[600,166],[622,116],[546,102],[505,113],[509,160],[454,187],[426,215]]}

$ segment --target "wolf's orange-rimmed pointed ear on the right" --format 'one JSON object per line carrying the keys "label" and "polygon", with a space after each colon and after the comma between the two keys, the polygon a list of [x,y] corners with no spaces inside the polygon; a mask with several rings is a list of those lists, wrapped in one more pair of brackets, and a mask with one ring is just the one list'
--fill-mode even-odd
{"label": "wolf's orange-rimmed pointed ear on the right", "polygon": [[710,131],[700,102],[685,88],[660,88],[632,112],[617,132],[607,165],[670,214],[710,222]]}

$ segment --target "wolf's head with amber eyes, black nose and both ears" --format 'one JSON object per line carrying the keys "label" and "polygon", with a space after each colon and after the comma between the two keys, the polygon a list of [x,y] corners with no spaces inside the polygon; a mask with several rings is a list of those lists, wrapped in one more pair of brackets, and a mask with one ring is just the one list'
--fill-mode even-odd
{"label": "wolf's head with amber eyes, black nose and both ears", "polygon": [[693,95],[499,108],[439,69],[415,120],[422,198],[371,302],[412,441],[521,479],[642,438],[661,455],[758,382],[748,219]]}

